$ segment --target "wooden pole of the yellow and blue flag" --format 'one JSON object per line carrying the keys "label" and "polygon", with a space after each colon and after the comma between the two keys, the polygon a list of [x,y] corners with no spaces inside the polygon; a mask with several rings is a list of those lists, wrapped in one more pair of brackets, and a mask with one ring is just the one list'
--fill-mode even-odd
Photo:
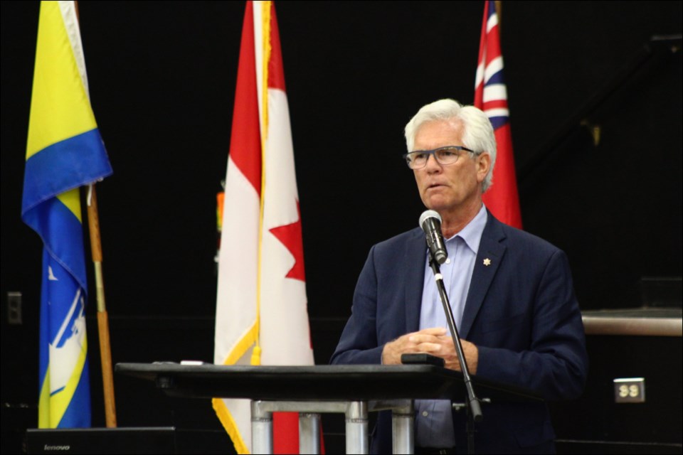
{"label": "wooden pole of the yellow and blue flag", "polygon": [[105,393],[105,418],[107,428],[116,427],[116,403],[114,400],[114,375],[112,373],[112,348],[109,341],[109,316],[105,305],[105,284],[102,279],[102,241],[100,239],[100,215],[97,213],[95,184],[88,187],[88,228],[90,250],[95,264],[95,289],[97,289],[97,329],[100,336],[102,385]]}

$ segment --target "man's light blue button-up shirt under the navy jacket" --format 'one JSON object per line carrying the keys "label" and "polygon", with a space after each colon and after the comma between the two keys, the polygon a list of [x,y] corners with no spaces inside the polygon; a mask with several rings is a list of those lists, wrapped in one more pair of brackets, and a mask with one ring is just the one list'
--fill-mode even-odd
{"label": "man's light blue button-up shirt under the navy jacket", "polygon": [[[475,259],[486,225],[487,212],[482,208],[470,223],[460,232],[445,241],[448,259],[441,264],[443,285],[448,294],[455,326],[460,330],[462,312],[465,310],[467,292],[470,290]],[[425,285],[422,291],[420,309],[420,330],[423,328],[443,327],[450,334],[443,304],[429,267],[429,251],[425,259]],[[463,397],[463,401],[465,397]],[[415,446],[452,447],[455,446],[453,418],[450,400],[415,400]],[[463,429],[464,430],[464,429]]]}

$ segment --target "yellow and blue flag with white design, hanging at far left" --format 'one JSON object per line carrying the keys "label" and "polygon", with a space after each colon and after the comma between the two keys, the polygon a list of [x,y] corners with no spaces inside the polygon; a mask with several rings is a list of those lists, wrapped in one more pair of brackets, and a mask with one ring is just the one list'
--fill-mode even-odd
{"label": "yellow and blue flag with white design, hanging at far left", "polygon": [[112,173],[73,1],[42,1],[21,218],[43,239],[38,427],[90,427],[79,187]]}

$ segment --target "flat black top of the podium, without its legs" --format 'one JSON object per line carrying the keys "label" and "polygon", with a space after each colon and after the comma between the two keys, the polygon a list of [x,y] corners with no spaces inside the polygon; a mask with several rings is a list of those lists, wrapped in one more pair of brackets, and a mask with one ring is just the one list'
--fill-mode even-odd
{"label": "flat black top of the podium, without its legs", "polygon": [[[434,365],[242,366],[117,363],[167,395],[251,400],[465,400],[462,374]],[[538,394],[472,378],[480,398],[541,400]]]}

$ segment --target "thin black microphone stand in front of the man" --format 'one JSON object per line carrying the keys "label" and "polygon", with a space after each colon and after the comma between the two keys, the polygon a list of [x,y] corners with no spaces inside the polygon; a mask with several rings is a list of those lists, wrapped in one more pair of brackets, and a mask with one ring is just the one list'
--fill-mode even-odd
{"label": "thin black microphone stand in front of the man", "polygon": [[448,321],[448,328],[450,328],[450,336],[453,338],[453,344],[455,345],[455,350],[457,352],[457,358],[460,360],[460,370],[462,370],[462,380],[465,382],[465,390],[467,390],[467,453],[475,453],[475,428],[474,422],[481,422],[484,419],[482,414],[482,407],[480,406],[480,400],[475,395],[475,389],[472,387],[472,379],[470,378],[470,370],[467,368],[467,360],[465,360],[465,353],[462,352],[462,343],[460,343],[460,336],[457,333],[457,327],[455,326],[455,318],[453,317],[453,311],[450,308],[450,303],[448,301],[448,294],[446,294],[446,289],[443,286],[443,276],[441,275],[441,269],[439,263],[434,259],[434,255],[431,249],[429,249],[429,266],[434,272],[434,279],[436,282],[436,287],[439,290],[439,296],[441,298],[441,303],[443,304],[443,311],[446,314],[446,321]]}

